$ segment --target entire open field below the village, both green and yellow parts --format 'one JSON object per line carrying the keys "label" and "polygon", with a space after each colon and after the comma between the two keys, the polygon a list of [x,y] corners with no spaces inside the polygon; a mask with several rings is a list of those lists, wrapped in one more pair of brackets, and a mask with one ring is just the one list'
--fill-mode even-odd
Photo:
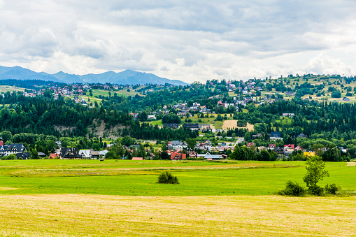
{"label": "entire open field below the village, both green and yellow parts", "polygon": [[327,170],[353,196],[273,195],[304,161],[0,161],[0,236],[355,236],[356,166]]}

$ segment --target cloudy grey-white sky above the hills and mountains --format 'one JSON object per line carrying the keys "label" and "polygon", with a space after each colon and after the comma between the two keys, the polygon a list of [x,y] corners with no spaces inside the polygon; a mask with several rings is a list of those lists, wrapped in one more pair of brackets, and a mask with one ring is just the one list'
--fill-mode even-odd
{"label": "cloudy grey-white sky above the hills and mountains", "polygon": [[355,0],[0,0],[0,65],[185,82],[356,75]]}

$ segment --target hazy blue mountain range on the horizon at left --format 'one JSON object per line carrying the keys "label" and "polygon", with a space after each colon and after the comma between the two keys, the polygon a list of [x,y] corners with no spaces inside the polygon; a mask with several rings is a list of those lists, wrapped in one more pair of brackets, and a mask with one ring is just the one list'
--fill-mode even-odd
{"label": "hazy blue mountain range on the horizon at left", "polygon": [[187,85],[187,83],[180,80],[169,80],[167,78],[160,78],[151,73],[141,73],[138,71],[125,70],[120,73],[115,73],[115,71],[107,71],[100,74],[86,74],[86,75],[75,75],[64,73],[59,71],[55,74],[48,74],[45,72],[36,73],[29,69],[24,69],[21,66],[0,66],[0,80],[4,79],[17,79],[17,80],[50,80],[54,82],[65,82],[65,83],[106,83],[111,84],[121,84],[121,85],[137,85],[137,84],[165,84],[169,83],[172,85]]}

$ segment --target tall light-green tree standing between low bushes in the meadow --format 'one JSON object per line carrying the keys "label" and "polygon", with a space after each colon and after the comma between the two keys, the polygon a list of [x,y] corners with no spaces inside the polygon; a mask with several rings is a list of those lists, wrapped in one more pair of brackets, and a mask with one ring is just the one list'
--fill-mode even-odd
{"label": "tall light-green tree standing between low bushes in the meadow", "polygon": [[325,170],[325,161],[322,161],[322,157],[308,157],[306,161],[306,175],[303,180],[311,190],[311,193],[318,194],[319,191],[322,191],[322,188],[317,183],[324,177],[329,177],[329,171]]}

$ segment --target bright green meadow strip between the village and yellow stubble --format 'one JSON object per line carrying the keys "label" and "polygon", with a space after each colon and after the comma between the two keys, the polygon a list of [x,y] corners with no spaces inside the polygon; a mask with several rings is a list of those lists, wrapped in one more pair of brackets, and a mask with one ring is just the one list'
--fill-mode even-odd
{"label": "bright green meadow strip between the village and yellow stubble", "polygon": [[[327,163],[344,192],[355,192],[356,166]],[[159,185],[170,171],[180,185]],[[0,161],[0,194],[103,194],[123,196],[269,195],[287,180],[304,185],[303,161]]]}

